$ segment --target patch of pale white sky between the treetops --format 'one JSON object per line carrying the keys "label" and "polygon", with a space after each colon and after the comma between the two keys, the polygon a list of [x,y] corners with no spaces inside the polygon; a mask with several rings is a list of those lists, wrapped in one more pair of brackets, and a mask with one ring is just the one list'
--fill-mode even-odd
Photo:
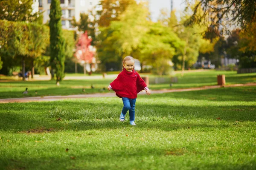
{"label": "patch of pale white sky between the treetops", "polygon": [[[156,22],[160,10],[165,8],[168,10],[168,13],[171,11],[171,0],[148,0],[149,1],[149,10],[151,12],[151,19],[152,21]],[[183,0],[172,0],[173,1],[173,9],[177,11],[176,16],[178,17],[178,11],[183,11],[185,8],[185,4]]]}

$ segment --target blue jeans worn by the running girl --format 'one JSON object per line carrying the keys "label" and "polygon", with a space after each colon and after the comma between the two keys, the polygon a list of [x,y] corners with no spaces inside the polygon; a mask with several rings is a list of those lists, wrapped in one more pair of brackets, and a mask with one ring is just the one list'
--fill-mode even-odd
{"label": "blue jeans worn by the running girl", "polygon": [[136,98],[135,99],[129,99],[127,97],[122,97],[122,101],[123,101],[123,104],[124,104],[124,107],[122,109],[123,115],[125,115],[127,113],[127,111],[129,111],[130,121],[134,121],[135,120],[135,102],[136,102]]}

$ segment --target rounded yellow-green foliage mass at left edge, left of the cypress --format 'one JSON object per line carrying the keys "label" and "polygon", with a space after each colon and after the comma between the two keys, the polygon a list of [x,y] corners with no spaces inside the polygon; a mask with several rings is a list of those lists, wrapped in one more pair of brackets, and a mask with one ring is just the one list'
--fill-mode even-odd
{"label": "rounded yellow-green foliage mass at left edge, left of the cypress", "polygon": [[0,20],[0,56],[3,72],[20,65],[22,58],[35,59],[49,44],[49,28],[38,23]]}

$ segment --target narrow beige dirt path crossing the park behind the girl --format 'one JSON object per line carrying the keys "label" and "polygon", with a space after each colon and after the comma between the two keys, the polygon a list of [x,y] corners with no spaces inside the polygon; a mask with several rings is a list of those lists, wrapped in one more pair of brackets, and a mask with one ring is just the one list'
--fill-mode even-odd
{"label": "narrow beige dirt path crossing the park behind the girl", "polygon": [[[237,86],[256,86],[256,83],[247,83],[247,84],[234,84],[234,85],[210,85],[198,88],[183,88],[183,89],[166,89],[166,90],[152,90],[151,94],[163,94],[171,92],[180,92],[180,91],[199,91],[212,88],[221,88],[221,87],[237,87]],[[141,91],[139,95],[145,95],[145,91]],[[115,93],[96,93],[96,94],[76,94],[68,96],[39,96],[39,97],[24,97],[24,98],[9,98],[9,99],[0,99],[0,103],[13,103],[13,102],[43,102],[43,101],[56,101],[62,99],[82,99],[88,97],[113,97],[116,96]]]}

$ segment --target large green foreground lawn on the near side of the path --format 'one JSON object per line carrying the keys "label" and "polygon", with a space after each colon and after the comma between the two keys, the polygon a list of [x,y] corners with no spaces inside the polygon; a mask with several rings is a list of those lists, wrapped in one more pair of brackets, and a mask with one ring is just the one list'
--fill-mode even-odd
{"label": "large green foreground lawn on the near side of the path", "polygon": [[0,104],[0,167],[255,170],[255,96],[255,86],[139,96],[135,127],[119,122],[117,97]]}

